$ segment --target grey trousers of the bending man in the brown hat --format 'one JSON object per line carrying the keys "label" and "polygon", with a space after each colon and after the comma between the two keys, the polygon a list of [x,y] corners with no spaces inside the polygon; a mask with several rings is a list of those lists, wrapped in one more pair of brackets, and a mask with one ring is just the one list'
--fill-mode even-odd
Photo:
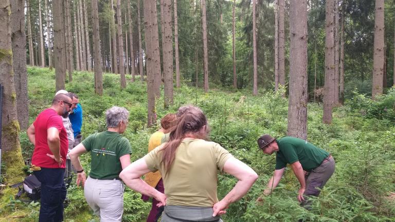
{"label": "grey trousers of the bending man in the brown hat", "polygon": [[319,189],[324,188],[325,184],[331,178],[332,174],[335,172],[335,160],[332,156],[326,158],[321,165],[312,170],[308,175],[306,175],[306,191],[304,195],[307,197],[301,203],[301,206],[310,209],[310,202],[308,196],[318,196],[321,192]]}

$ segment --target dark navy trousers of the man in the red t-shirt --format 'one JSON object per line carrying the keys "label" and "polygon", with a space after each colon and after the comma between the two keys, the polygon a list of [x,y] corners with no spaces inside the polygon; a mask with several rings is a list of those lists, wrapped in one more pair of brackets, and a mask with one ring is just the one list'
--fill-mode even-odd
{"label": "dark navy trousers of the man in the red t-shirt", "polygon": [[63,202],[66,198],[62,168],[41,168],[34,171],[41,182],[41,207],[39,222],[63,221]]}

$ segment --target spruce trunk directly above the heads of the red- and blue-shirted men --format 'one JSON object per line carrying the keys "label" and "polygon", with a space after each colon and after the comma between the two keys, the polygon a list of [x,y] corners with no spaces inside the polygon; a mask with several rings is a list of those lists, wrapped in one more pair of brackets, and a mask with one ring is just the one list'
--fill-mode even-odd
{"label": "spruce trunk directly above the heads of the red- and blue-shirted men", "polygon": [[63,24],[63,13],[62,13],[62,1],[52,2],[53,12],[53,43],[55,44],[54,49],[54,61],[55,62],[55,88],[56,91],[64,89],[64,77],[66,76],[64,69],[64,55],[63,55],[63,36],[62,36],[62,24]]}

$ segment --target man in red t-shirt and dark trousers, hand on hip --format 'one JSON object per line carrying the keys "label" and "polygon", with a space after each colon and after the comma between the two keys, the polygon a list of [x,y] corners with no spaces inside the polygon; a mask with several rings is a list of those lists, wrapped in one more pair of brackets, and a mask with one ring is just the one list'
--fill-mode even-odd
{"label": "man in red t-shirt and dark trousers, hand on hip", "polygon": [[51,107],[41,112],[27,129],[27,135],[34,144],[31,163],[41,168],[34,171],[41,182],[40,222],[63,221],[63,201],[66,198],[63,175],[68,140],[61,115],[70,111],[71,101],[66,94],[55,96]]}

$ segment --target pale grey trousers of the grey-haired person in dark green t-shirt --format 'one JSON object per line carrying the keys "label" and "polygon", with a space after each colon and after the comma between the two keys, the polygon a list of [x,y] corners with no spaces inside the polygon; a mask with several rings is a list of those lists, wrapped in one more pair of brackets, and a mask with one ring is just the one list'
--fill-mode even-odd
{"label": "pale grey trousers of the grey-haired person in dark green t-shirt", "polygon": [[100,222],[121,222],[123,213],[123,183],[120,180],[99,180],[88,177],[84,195]]}

